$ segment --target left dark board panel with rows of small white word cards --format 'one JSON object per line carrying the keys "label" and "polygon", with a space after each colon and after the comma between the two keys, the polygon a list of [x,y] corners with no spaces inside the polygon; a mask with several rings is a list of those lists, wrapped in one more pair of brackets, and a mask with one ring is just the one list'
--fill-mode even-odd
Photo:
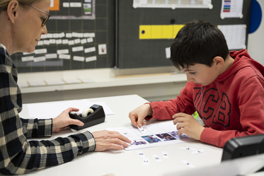
{"label": "left dark board panel with rows of small white word cards", "polygon": [[35,53],[11,56],[18,73],[115,65],[115,0],[52,0],[50,15]]}

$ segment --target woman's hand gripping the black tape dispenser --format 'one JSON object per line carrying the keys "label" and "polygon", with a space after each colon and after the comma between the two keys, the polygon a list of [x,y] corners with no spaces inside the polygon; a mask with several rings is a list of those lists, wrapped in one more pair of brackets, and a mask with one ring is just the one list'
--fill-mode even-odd
{"label": "woman's hand gripping the black tape dispenser", "polygon": [[79,109],[74,107],[69,107],[67,110],[64,110],[58,117],[53,119],[52,131],[57,133],[62,131],[65,127],[69,127],[70,124],[76,124],[78,126],[84,126],[84,123],[78,119],[71,119],[69,117],[69,112],[78,112]]}

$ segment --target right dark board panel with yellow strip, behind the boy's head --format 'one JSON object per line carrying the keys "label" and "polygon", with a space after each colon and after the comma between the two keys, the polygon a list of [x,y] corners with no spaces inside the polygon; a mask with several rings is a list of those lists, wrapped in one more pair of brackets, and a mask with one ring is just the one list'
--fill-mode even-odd
{"label": "right dark board panel with yellow strip, behind the boy's head", "polygon": [[[231,0],[234,1],[234,0]],[[133,5],[141,2],[151,4],[149,7],[134,8]],[[118,54],[117,67],[120,69],[142,68],[151,66],[173,66],[166,57],[166,48],[171,47],[171,38],[139,39],[142,25],[183,25],[194,19],[210,22],[214,25],[246,25],[246,42],[251,15],[251,0],[243,0],[242,14],[239,18],[224,18],[220,16],[222,1],[212,0],[210,8],[186,8],[185,4],[195,4],[199,1],[174,1],[175,4],[183,4],[180,8],[166,7],[170,1],[118,1]],[[202,1],[200,1],[202,2]],[[206,2],[206,1],[204,1]],[[226,1],[223,0],[223,3]],[[162,8],[156,8],[162,6]],[[165,4],[165,5],[164,5]],[[163,6],[164,5],[164,6]],[[174,9],[173,9],[174,8]],[[242,49],[242,48],[241,48]]]}

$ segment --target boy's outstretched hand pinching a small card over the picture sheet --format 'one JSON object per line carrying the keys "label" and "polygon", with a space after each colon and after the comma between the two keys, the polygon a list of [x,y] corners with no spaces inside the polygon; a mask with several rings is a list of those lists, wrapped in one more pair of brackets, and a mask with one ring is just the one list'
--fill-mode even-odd
{"label": "boy's outstretched hand pinching a small card over the picture sheet", "polygon": [[152,113],[151,106],[149,104],[144,104],[132,110],[128,117],[130,117],[131,123],[134,124],[135,127],[141,128],[144,124],[147,124],[143,122],[144,118],[151,116]]}

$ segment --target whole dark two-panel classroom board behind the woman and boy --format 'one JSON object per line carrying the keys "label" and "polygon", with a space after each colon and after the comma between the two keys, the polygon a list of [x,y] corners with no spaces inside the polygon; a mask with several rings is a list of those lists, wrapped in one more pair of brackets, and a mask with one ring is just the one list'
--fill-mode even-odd
{"label": "whole dark two-panel classroom board behind the woman and boy", "polygon": [[[212,2],[212,7],[204,8],[201,4],[199,8],[188,8],[188,4],[199,5],[201,1]],[[52,0],[48,32],[42,35],[35,52],[16,53],[11,57],[18,73],[172,66],[166,48],[171,46],[176,33],[173,37],[142,39],[141,28],[173,25],[180,29],[180,25],[194,19],[214,25],[246,25],[246,47],[251,0],[243,0],[242,18],[224,19],[220,16],[222,1]],[[171,2],[183,6],[162,6]],[[145,7],[144,3],[156,3],[161,8]]]}

